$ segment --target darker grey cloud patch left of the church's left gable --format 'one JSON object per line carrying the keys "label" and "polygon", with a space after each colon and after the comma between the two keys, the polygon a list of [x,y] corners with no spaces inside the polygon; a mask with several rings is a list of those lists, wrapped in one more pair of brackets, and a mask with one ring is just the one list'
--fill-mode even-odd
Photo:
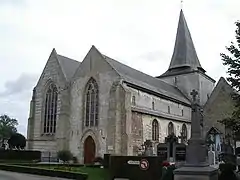
{"label": "darker grey cloud patch left of the church's left gable", "polygon": [[0,97],[22,94],[31,91],[36,84],[37,76],[35,74],[21,74],[16,80],[10,80],[5,83],[5,90],[0,92]]}

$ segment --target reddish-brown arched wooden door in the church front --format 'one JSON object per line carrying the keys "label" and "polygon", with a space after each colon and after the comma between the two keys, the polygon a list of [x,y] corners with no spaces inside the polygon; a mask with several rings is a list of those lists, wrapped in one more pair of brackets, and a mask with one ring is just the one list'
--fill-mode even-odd
{"label": "reddish-brown arched wooden door in the church front", "polygon": [[95,159],[96,144],[92,136],[84,141],[84,164],[91,164]]}

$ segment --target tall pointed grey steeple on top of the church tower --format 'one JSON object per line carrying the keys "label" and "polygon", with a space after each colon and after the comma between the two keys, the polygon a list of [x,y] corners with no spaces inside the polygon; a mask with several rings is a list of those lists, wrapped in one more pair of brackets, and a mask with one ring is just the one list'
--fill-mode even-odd
{"label": "tall pointed grey steeple on top of the church tower", "polygon": [[200,70],[205,72],[199,62],[182,9],[180,11],[174,52],[168,71],[173,70],[176,72],[177,69]]}

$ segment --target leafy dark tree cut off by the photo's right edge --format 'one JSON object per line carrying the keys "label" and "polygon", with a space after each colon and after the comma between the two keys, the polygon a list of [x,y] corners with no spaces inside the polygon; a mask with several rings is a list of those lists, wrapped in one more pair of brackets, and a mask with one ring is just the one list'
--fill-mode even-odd
{"label": "leafy dark tree cut off by the photo's right edge", "polygon": [[237,27],[235,31],[236,42],[231,42],[231,45],[226,47],[228,54],[220,54],[223,65],[228,66],[229,77],[227,77],[227,80],[235,91],[232,94],[235,108],[230,117],[219,121],[232,131],[234,137],[240,132],[240,22],[238,21],[235,24]]}

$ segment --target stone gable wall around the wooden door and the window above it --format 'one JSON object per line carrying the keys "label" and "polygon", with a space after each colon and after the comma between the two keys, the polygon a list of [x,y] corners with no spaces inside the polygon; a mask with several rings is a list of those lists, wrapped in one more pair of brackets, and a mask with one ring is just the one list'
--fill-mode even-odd
{"label": "stone gable wall around the wooden door and the window above it", "polygon": [[[96,80],[99,88],[99,123],[97,127],[91,128],[85,127],[83,124],[85,119],[84,92],[90,78]],[[119,81],[117,73],[104,60],[103,56],[92,48],[76,71],[70,92],[70,129],[72,132],[69,148],[80,162],[83,162],[84,141],[89,135],[95,141],[96,156],[103,156],[108,152],[108,148],[113,150],[115,148],[117,90],[112,88],[115,81]]]}

